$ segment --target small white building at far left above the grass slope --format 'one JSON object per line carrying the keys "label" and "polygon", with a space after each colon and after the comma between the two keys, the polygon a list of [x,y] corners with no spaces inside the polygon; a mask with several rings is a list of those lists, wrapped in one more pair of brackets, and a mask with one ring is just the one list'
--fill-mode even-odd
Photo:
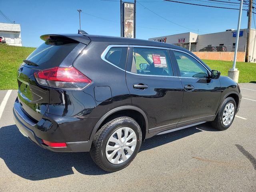
{"label": "small white building at far left above the grass slope", "polygon": [[20,24],[0,23],[0,36],[8,45],[22,46]]}

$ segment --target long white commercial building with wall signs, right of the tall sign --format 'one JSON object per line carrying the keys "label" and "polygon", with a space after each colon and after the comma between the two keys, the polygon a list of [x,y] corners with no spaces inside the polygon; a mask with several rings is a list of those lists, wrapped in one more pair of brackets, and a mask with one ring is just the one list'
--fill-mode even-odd
{"label": "long white commercial building with wall signs, right of the tall sign", "polygon": [[[245,52],[246,50],[247,29],[241,29],[239,33],[238,51]],[[193,32],[182,34],[174,34],[168,36],[149,38],[148,40],[175,44],[184,47],[192,52],[201,52],[208,50],[206,47],[225,46],[227,52],[234,52],[236,42],[236,30],[226,30],[224,32],[210,33],[198,35]],[[251,29],[250,32],[250,62],[256,62],[256,30]],[[205,48],[205,49],[204,49]],[[216,50],[215,50],[216,51]],[[219,51],[219,50],[218,50]]]}

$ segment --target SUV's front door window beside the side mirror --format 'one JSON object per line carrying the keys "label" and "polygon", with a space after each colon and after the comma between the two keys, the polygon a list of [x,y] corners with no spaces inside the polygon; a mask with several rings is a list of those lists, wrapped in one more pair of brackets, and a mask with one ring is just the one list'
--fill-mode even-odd
{"label": "SUV's front door window beside the side mirror", "polygon": [[197,60],[188,54],[174,51],[182,77],[206,78],[208,72]]}

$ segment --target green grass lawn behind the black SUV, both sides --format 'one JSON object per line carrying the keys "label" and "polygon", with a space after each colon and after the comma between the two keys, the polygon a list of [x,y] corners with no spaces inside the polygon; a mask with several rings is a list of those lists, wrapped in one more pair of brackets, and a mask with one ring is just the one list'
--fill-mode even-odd
{"label": "green grass lawn behind the black SUV, both sides", "polygon": [[[17,70],[20,64],[35,48],[18,47],[0,44],[0,90],[18,89],[16,80]],[[143,58],[136,56],[136,62],[145,62]],[[222,75],[228,75],[232,68],[232,61],[204,60],[211,69],[219,70]],[[139,66],[138,66],[139,67]],[[236,67],[240,71],[239,82],[256,82],[256,63],[237,62]]]}

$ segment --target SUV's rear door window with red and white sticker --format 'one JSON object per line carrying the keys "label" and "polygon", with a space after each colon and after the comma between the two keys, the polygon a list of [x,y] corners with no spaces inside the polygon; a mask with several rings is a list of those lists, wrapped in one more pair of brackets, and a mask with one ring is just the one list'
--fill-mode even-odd
{"label": "SUV's rear door window with red and white sticker", "polygon": [[146,75],[173,76],[168,51],[134,47],[131,72]]}

